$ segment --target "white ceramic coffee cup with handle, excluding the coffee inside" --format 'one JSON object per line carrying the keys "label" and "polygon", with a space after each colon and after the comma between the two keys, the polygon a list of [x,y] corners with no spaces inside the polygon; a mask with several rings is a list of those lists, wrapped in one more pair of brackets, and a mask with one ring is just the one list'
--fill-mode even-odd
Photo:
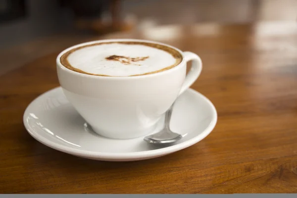
{"label": "white ceramic coffee cup with handle, excluding the coffee inside", "polygon": [[[182,55],[182,61],[165,71],[128,77],[79,73],[64,67],[60,62],[60,57],[71,49],[123,41],[170,47]],[[192,66],[186,75],[188,61],[192,61]],[[56,64],[59,83],[66,98],[96,133],[113,139],[137,138],[152,132],[162,114],[197,80],[202,69],[200,57],[193,52],[182,52],[159,42],[136,39],[79,44],[63,50],[57,56]]]}

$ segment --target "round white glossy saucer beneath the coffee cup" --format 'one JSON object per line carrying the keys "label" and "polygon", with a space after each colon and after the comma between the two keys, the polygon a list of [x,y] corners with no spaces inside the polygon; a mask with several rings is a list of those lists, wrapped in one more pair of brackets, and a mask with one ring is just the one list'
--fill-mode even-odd
{"label": "round white glossy saucer beneath the coffee cup", "polygon": [[[24,113],[29,134],[42,144],[79,157],[103,161],[135,161],[166,155],[190,147],[205,138],[217,122],[213,104],[189,89],[174,106],[171,129],[183,135],[174,145],[152,146],[143,138],[114,140],[91,131],[65,98],[60,87],[34,99]],[[160,120],[156,131],[163,126]],[[153,133],[155,133],[153,132]]]}

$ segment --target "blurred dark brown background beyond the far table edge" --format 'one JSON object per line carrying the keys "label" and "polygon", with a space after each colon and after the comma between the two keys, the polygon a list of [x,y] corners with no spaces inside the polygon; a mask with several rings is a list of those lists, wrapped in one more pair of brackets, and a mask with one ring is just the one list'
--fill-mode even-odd
{"label": "blurred dark brown background beyond the far table edge", "polygon": [[[296,20],[297,0],[0,0],[0,75],[113,33],[204,24],[208,34],[213,24]],[[164,29],[151,40],[170,35]]]}

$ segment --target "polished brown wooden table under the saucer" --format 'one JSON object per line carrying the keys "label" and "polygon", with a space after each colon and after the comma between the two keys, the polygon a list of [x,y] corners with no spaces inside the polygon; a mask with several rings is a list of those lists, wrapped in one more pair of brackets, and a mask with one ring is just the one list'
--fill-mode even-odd
{"label": "polished brown wooden table under the saucer", "polygon": [[58,86],[57,51],[0,77],[0,193],[297,193],[295,23],[163,26],[108,38],[198,53],[203,71],[192,88],[217,108],[213,132],[190,148],[136,162],[93,161],[42,145],[22,116]]}

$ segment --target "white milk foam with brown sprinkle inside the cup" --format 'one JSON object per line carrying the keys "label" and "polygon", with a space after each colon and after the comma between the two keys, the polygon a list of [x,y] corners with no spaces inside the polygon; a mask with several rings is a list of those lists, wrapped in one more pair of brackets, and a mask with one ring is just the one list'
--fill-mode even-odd
{"label": "white milk foam with brown sprinkle inside the cup", "polygon": [[[112,58],[114,56],[117,58]],[[77,49],[68,55],[67,60],[76,69],[108,76],[146,74],[175,65],[177,61],[171,53],[162,49],[120,43]]]}

